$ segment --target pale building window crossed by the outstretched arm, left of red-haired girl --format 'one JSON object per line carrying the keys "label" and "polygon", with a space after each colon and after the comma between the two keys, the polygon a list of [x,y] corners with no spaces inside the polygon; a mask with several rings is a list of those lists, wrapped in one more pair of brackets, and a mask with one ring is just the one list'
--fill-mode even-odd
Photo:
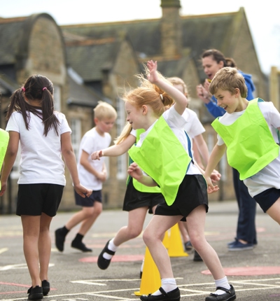
{"label": "pale building window crossed by the outstretched arm, left of red-haired girl", "polygon": [[[116,120],[116,126],[117,126],[117,134],[120,135],[120,133],[123,131],[123,128],[125,127],[125,102],[123,102],[123,99],[118,98],[117,99],[117,113],[118,118]],[[117,158],[117,179],[123,180],[127,177],[127,154],[123,154],[118,156]]]}

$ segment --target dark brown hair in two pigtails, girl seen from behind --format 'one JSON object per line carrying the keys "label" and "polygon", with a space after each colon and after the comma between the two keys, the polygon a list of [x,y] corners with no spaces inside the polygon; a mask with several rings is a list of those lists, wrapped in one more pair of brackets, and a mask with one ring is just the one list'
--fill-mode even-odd
{"label": "dark brown hair in two pigtails, girl seen from behind", "polygon": [[[41,107],[31,106],[25,101],[25,97],[29,100],[40,101]],[[42,110],[42,112],[38,110]],[[58,135],[59,120],[54,114],[53,85],[45,76],[29,76],[25,84],[13,92],[6,120],[9,120],[14,111],[22,113],[27,130],[29,130],[30,113],[33,113],[43,121],[45,136],[52,127]]]}

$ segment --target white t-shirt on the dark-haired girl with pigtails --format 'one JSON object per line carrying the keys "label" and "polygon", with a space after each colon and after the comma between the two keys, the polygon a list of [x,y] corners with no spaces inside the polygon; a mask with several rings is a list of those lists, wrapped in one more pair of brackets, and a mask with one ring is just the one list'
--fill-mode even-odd
{"label": "white t-shirt on the dark-haired girl with pigtails", "polygon": [[8,120],[6,131],[20,133],[19,184],[52,183],[65,186],[60,135],[71,132],[62,113],[55,112],[60,125],[59,135],[52,128],[45,137],[41,118],[30,113],[29,130],[25,127],[22,113],[14,112]]}

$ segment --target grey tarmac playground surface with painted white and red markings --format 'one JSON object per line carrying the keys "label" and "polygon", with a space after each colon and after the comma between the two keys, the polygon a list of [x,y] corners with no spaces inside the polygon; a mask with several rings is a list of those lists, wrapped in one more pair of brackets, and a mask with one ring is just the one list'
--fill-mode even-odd
{"label": "grey tarmac playground surface with painted white and red markings", "polygon": [[[258,205],[257,205],[258,206]],[[215,248],[229,282],[235,287],[237,300],[280,300],[280,228],[258,207],[256,226],[258,245],[253,250],[230,252],[227,243],[235,237],[237,226],[237,202],[213,202],[205,235]],[[127,241],[118,248],[111,265],[106,270],[97,267],[97,257],[106,242],[127,225],[127,212],[103,211],[90,232],[84,238],[92,253],[82,253],[71,248],[71,240],[77,228],[66,237],[64,252],[55,248],[55,229],[62,227],[73,213],[59,212],[52,220],[52,253],[50,257],[50,293],[45,301],[139,300],[139,293],[157,290],[160,278],[153,261],[146,255],[141,236]],[[147,215],[146,223],[151,219]],[[193,253],[181,252],[179,232],[169,233],[168,249],[171,254],[174,277],[181,290],[181,300],[205,300],[215,290],[214,280],[204,262],[194,262]],[[172,240],[173,239],[173,240]],[[176,254],[176,251],[178,253]],[[142,261],[146,265],[142,279],[139,277]],[[22,251],[22,225],[18,216],[0,216],[0,301],[27,300],[31,286],[27,265]]]}

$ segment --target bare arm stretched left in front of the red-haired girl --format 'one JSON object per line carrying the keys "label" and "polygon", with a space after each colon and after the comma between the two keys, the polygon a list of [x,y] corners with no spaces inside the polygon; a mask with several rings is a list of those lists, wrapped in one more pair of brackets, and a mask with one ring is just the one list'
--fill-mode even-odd
{"label": "bare arm stretched left in front of the red-haired girl", "polygon": [[126,153],[135,143],[136,138],[130,134],[123,142],[120,144],[115,144],[109,148],[104,148],[104,150],[96,151],[92,153],[92,160],[100,160],[101,157],[117,157]]}

